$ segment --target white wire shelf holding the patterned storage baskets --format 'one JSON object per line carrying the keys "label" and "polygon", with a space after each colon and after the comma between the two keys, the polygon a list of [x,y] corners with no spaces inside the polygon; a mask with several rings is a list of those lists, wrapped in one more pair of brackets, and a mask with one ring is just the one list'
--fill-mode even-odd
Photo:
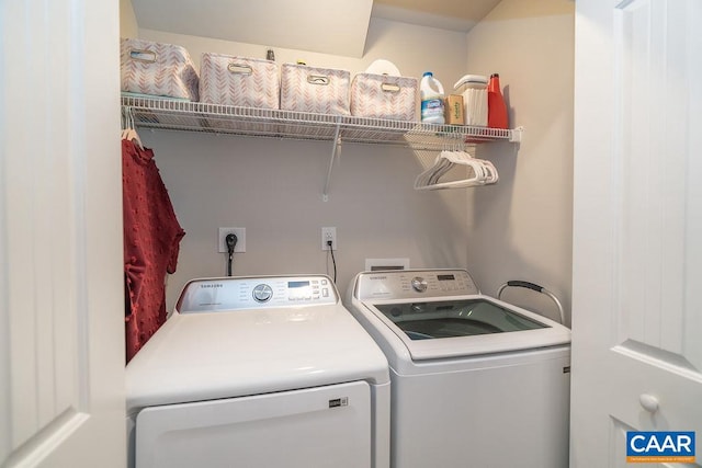
{"label": "white wire shelf holding the patterned storage baskets", "polygon": [[420,124],[348,115],[123,96],[139,128],[445,149],[453,142],[519,141],[521,129]]}

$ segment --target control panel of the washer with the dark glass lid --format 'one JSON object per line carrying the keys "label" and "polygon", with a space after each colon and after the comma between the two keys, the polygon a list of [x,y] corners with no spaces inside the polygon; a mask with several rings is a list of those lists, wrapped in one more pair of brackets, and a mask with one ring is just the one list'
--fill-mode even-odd
{"label": "control panel of the washer with the dark glass lid", "polygon": [[353,296],[367,299],[416,299],[418,297],[480,294],[465,270],[393,270],[360,273]]}

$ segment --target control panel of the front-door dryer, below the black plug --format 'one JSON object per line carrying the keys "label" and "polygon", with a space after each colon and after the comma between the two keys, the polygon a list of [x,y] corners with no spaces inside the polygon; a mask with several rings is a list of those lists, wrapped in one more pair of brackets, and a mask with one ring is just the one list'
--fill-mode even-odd
{"label": "control panel of the front-door dryer, below the black plug", "polygon": [[203,278],[180,294],[180,313],[337,304],[339,294],[325,275]]}

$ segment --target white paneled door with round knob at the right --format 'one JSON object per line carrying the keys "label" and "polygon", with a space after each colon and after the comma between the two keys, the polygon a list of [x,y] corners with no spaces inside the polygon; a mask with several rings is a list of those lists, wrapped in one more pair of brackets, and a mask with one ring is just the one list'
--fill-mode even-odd
{"label": "white paneled door with round knob at the right", "polygon": [[576,3],[571,467],[627,466],[627,431],[695,432],[702,461],[701,22]]}

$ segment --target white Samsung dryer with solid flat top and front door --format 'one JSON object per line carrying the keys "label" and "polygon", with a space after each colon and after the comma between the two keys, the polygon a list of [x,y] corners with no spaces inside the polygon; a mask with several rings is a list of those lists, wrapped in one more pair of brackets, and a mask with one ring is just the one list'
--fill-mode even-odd
{"label": "white Samsung dryer with solid flat top and front door", "polygon": [[131,464],[387,467],[389,391],[329,277],[195,279],[127,365]]}

